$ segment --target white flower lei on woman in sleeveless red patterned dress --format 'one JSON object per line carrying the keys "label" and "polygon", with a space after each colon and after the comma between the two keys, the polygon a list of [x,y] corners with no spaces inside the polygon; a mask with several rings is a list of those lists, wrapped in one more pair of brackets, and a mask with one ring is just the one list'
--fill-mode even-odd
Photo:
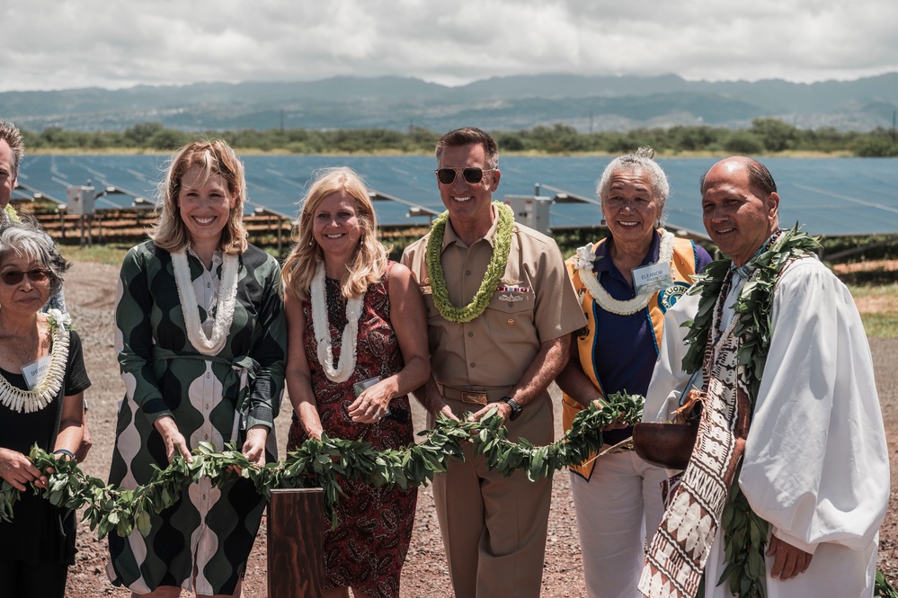
{"label": "white flower lei on woman in sleeveless red patterned dress", "polygon": [[359,337],[359,318],[361,306],[365,301],[365,293],[346,301],[346,326],[343,328],[340,361],[333,368],[333,348],[331,345],[331,327],[327,320],[325,298],[325,264],[318,262],[315,278],[309,287],[309,299],[312,301],[312,329],[318,344],[318,363],[325,370],[325,376],[332,382],[345,382],[355,370],[356,343]]}

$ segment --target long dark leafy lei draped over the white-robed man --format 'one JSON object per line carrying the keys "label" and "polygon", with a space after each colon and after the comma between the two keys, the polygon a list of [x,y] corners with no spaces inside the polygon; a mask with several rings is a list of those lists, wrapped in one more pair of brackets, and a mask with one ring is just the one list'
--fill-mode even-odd
{"label": "long dark leafy lei draped over the white-robed man", "polygon": [[[742,285],[739,298],[734,306],[735,313],[740,316],[734,329],[734,335],[741,340],[737,353],[739,365],[744,366],[744,380],[748,387],[750,413],[754,411],[758,397],[760,379],[767,363],[770,348],[771,322],[773,307],[773,290],[780,272],[790,261],[813,254],[820,248],[816,238],[799,232],[798,225],[784,231],[766,251],[761,252],[747,264],[754,271]],[[689,351],[683,359],[683,370],[698,371],[702,368],[705,347],[711,336],[714,325],[714,312],[717,298],[724,286],[727,272],[732,262],[718,260],[710,263],[703,274],[696,278],[698,282],[688,291],[690,295],[700,295],[698,313],[691,322],[683,326],[689,327],[686,343]],[[723,298],[721,300],[724,300]],[[750,428],[751,429],[751,428]],[[765,576],[764,552],[767,545],[769,523],[751,510],[748,499],[739,487],[739,471],[730,488],[730,498],[721,516],[724,531],[724,550],[726,567],[716,584],[721,585],[729,579],[730,592],[737,596],[764,596],[763,579]]]}

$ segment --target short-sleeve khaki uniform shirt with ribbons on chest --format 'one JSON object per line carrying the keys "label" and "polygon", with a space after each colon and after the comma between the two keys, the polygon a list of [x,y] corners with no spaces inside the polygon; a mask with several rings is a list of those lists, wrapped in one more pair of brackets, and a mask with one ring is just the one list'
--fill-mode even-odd
{"label": "short-sleeve khaki uniform shirt with ribbons on chest", "polygon": [[[467,246],[447,223],[441,263],[453,305],[467,305],[480,288],[497,228],[498,218],[493,218],[486,236]],[[586,325],[555,240],[517,223],[502,281],[485,312],[467,323],[445,320],[431,294],[424,257],[429,238],[409,245],[402,263],[412,271],[427,304],[431,371],[437,383],[472,390],[511,387],[543,342]]]}

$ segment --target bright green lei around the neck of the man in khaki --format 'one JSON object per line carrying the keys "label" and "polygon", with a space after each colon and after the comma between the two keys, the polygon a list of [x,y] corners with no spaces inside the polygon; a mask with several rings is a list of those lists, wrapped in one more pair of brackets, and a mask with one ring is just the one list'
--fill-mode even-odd
{"label": "bright green lei around the neck of the man in khaki", "polygon": [[440,263],[440,254],[443,247],[443,234],[446,232],[446,223],[449,221],[449,211],[444,211],[433,221],[431,237],[427,240],[427,251],[424,254],[427,263],[428,277],[431,279],[431,292],[433,305],[440,311],[440,316],[449,322],[470,322],[484,313],[486,306],[505,272],[505,264],[508,263],[508,254],[511,251],[511,228],[514,226],[514,212],[503,203],[493,201],[493,206],[499,212],[499,226],[496,228],[496,237],[493,242],[493,257],[486,266],[484,280],[480,283],[480,289],[463,308],[457,308],[449,301],[449,291],[446,290],[446,277],[443,266]]}

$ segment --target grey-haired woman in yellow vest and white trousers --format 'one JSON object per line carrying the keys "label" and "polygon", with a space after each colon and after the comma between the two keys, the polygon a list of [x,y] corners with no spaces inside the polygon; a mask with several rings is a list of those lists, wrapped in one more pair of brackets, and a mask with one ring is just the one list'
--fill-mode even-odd
{"label": "grey-haired woman in yellow vest and white trousers", "polygon": [[[652,156],[640,147],[605,168],[596,195],[609,236],[566,263],[588,322],[573,337],[573,358],[556,379],[565,392],[567,430],[590,403],[602,406],[619,391],[645,396],[664,312],[711,261],[700,246],[661,228],[670,184]],[[613,447],[632,434],[632,427],[610,427],[602,440]],[[592,455],[570,476],[587,594],[634,596],[646,536],[651,540],[664,512],[667,470],[621,450]]]}

